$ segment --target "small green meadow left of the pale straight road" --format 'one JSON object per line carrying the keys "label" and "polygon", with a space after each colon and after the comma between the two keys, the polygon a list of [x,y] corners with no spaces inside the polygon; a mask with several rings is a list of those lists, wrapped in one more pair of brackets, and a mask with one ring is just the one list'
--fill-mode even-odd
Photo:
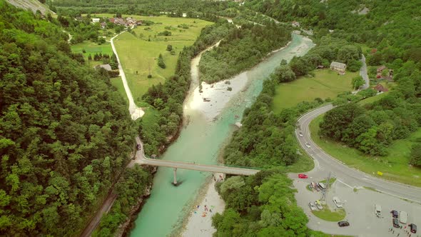
{"label": "small green meadow left of the pale straight road", "polygon": [[[83,53],[83,49],[85,49],[86,53]],[[88,61],[88,56],[91,54],[92,58],[94,54],[108,54],[109,56],[113,55],[113,49],[111,49],[111,44],[106,42],[106,44],[98,45],[91,41],[84,41],[83,43],[73,44],[71,45],[71,51],[73,53],[81,53],[85,58],[87,64],[89,66],[96,66],[98,64],[102,64],[102,61]]]}

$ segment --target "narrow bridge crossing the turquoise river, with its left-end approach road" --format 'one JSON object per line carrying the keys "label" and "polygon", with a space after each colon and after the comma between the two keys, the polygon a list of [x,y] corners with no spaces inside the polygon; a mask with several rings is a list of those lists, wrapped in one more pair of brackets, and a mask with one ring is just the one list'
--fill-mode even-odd
{"label": "narrow bridge crossing the turquoise river, with its left-end approach road", "polygon": [[138,163],[141,165],[149,165],[149,166],[184,168],[184,169],[190,169],[190,170],[195,170],[195,171],[228,173],[228,174],[243,175],[243,176],[250,176],[252,174],[258,173],[259,171],[257,169],[251,169],[251,168],[213,166],[213,165],[203,165],[203,164],[198,164],[198,163],[187,163],[187,162],[182,162],[182,161],[164,161],[164,160],[159,160],[159,159],[146,158],[145,154],[143,153],[143,143],[141,143],[141,139],[139,137],[136,137],[136,142],[141,145],[141,149],[136,152],[136,159],[133,160],[129,166],[134,166],[135,163]]}

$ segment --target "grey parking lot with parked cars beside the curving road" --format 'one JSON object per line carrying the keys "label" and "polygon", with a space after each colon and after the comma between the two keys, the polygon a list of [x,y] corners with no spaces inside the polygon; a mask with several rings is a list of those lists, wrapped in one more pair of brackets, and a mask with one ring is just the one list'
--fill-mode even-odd
{"label": "grey parking lot with parked cars beside the curving road", "polygon": [[[344,221],[348,221],[350,226],[339,227],[337,222],[323,221],[311,213],[308,203],[318,200],[322,197],[322,192],[308,191],[306,186],[310,182],[317,182],[315,178],[307,179],[294,178],[294,186],[298,192],[295,193],[298,206],[301,206],[309,218],[308,227],[323,231],[324,233],[341,234],[348,236],[409,236],[405,233],[405,226],[401,228],[393,228],[392,215],[390,211],[406,211],[408,213],[407,225],[415,223],[418,228],[421,227],[421,205],[418,203],[410,203],[400,198],[395,198],[384,193],[368,190],[360,187],[358,191],[354,188],[346,186],[340,181],[335,181],[330,187],[326,195],[326,204],[331,210],[335,210],[333,196],[338,196],[343,202],[346,211]],[[382,207],[380,218],[375,216],[374,204]],[[402,224],[403,225],[403,224]],[[389,231],[393,228],[394,233]],[[421,236],[421,233],[412,233],[411,237]]]}

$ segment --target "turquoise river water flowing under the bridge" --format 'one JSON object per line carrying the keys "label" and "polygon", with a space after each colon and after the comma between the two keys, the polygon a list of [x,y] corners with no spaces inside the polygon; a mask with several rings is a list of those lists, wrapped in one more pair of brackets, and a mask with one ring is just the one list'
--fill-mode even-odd
{"label": "turquoise river water flowing under the bridge", "polygon": [[[161,158],[172,161],[217,163],[218,154],[224,142],[233,132],[233,123],[241,120],[244,109],[250,106],[260,94],[263,80],[273,72],[282,59],[288,61],[293,56],[303,56],[313,46],[314,44],[309,39],[293,35],[293,40],[285,49],[273,53],[245,74],[240,74],[241,79],[248,81],[247,86],[230,99],[216,121],[209,121],[201,111],[185,106],[184,114],[189,122],[182,129],[177,141],[169,146]],[[194,60],[200,60],[200,56],[193,59],[192,64]],[[197,74],[197,70],[193,68],[193,81],[197,79]],[[197,86],[194,83],[193,85]],[[186,104],[192,98],[191,92],[186,98]],[[236,115],[240,117],[235,118]],[[138,214],[130,235],[161,237],[178,231],[183,219],[193,208],[199,189],[210,175],[211,173],[207,172],[178,169],[177,180],[182,183],[175,187],[171,184],[173,169],[158,168],[153,178],[151,196]]]}

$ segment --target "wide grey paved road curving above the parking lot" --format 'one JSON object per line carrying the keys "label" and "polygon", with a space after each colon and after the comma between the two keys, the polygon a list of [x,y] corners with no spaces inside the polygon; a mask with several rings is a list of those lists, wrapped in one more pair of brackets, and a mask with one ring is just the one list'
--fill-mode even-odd
{"label": "wide grey paved road curving above the parking lot", "polygon": [[[343,183],[350,188],[359,186],[372,187],[377,191],[381,191],[382,193],[386,193],[391,196],[405,198],[409,201],[421,203],[421,188],[407,186],[392,181],[385,181],[383,179],[370,176],[367,173],[357,171],[354,168],[349,168],[332,156],[328,155],[328,153],[325,153],[313,142],[310,138],[308,125],[317,116],[324,114],[330,109],[333,109],[332,105],[323,106],[319,109],[315,109],[314,111],[310,111],[308,114],[305,114],[298,119],[300,127],[295,130],[295,136],[297,136],[300,145],[311,157],[314,158],[315,161],[315,168],[309,173],[316,173],[316,171],[323,170],[324,175],[327,176],[330,171],[333,176],[338,178],[340,183]],[[303,137],[299,136],[300,131],[303,132]],[[307,148],[305,143],[310,143],[310,148]]]}

